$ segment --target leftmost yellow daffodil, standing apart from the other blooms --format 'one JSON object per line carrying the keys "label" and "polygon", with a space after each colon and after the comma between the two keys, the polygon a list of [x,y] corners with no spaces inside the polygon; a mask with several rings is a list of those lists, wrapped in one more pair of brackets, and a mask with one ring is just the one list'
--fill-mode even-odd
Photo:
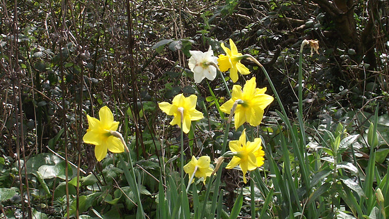
{"label": "leftmost yellow daffodil, standing apart from the other blooms", "polygon": [[94,155],[97,161],[106,157],[107,149],[113,153],[124,152],[122,140],[113,136],[119,127],[119,122],[113,120],[113,114],[107,106],[103,106],[99,111],[100,120],[88,117],[89,128],[83,136],[84,143],[95,145]]}

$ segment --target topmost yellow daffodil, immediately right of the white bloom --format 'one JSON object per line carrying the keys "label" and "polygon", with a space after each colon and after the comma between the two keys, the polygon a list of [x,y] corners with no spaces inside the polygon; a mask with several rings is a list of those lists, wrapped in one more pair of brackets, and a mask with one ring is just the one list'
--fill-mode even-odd
{"label": "topmost yellow daffodil, immediately right of the white bloom", "polygon": [[238,72],[240,74],[250,74],[250,70],[240,63],[240,60],[244,58],[241,53],[238,53],[238,49],[235,46],[233,40],[230,39],[230,47],[231,49],[224,46],[224,43],[221,44],[222,48],[226,52],[226,55],[219,55],[217,59],[217,65],[220,67],[220,71],[226,72],[230,70],[230,78],[233,83],[238,81]]}

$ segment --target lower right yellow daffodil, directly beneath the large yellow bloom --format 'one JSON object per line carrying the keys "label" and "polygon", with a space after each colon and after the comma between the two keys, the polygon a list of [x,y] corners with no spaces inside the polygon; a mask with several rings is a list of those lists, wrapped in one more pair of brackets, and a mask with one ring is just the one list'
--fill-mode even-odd
{"label": "lower right yellow daffodil, directly beneath the large yellow bloom", "polygon": [[239,165],[243,172],[243,181],[247,183],[247,171],[255,170],[260,165],[263,165],[263,156],[265,153],[262,150],[261,143],[260,138],[255,138],[254,142],[246,141],[246,129],[243,130],[239,140],[231,140],[229,142],[230,150],[233,152],[233,158],[227,164],[226,169],[232,169]]}

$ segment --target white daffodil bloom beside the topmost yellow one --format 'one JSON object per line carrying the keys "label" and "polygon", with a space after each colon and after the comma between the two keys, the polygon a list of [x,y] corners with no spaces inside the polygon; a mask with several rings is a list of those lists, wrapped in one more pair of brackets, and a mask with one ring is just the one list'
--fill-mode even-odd
{"label": "white daffodil bloom beside the topmost yellow one", "polygon": [[189,51],[192,56],[189,58],[189,68],[195,76],[195,82],[200,83],[204,78],[213,81],[216,77],[217,57],[213,56],[212,47],[208,51]]}

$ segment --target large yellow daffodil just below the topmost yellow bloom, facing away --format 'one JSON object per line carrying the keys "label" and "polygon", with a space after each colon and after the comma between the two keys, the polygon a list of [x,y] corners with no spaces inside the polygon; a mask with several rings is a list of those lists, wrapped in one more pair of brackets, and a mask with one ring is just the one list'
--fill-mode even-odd
{"label": "large yellow daffodil just below the topmost yellow bloom, facing away", "polygon": [[256,78],[253,77],[246,82],[243,90],[241,86],[234,85],[231,99],[225,102],[220,110],[229,114],[234,103],[238,102],[234,112],[235,129],[238,129],[245,122],[256,127],[262,121],[265,108],[274,99],[272,96],[266,95],[265,92],[266,88],[256,88]]}

